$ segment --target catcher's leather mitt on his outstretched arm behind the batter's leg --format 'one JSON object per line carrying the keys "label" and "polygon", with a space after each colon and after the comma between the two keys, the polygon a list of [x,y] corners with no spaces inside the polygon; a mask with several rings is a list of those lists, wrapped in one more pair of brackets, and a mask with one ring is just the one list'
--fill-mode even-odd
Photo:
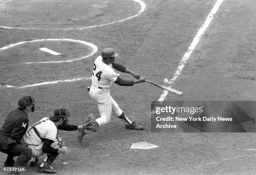
{"label": "catcher's leather mitt on his outstretched arm behind the batter's leg", "polygon": [[92,114],[87,115],[87,119],[84,119],[84,121],[83,121],[83,128],[78,129],[77,138],[79,140],[79,143],[82,143],[84,135],[86,134],[86,130],[96,132],[98,127],[99,127],[99,125],[96,122],[94,115],[92,115]]}

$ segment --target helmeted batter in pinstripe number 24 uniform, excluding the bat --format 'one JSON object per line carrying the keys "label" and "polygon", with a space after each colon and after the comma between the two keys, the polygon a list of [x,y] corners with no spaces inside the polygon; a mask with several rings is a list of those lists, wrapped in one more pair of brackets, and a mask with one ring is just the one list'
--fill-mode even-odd
{"label": "helmeted batter in pinstripe number 24 uniform, excluding the bat", "polygon": [[[110,95],[110,87],[115,82],[120,86],[133,86],[136,83],[145,82],[145,77],[126,68],[124,65],[115,63],[118,54],[112,48],[105,48],[94,62],[92,70],[92,85],[88,87],[89,95],[97,101],[100,117],[96,119],[97,127],[110,122],[111,113],[123,120],[126,129],[143,130],[141,125],[129,120]],[[123,80],[115,70],[133,75],[137,80]]]}

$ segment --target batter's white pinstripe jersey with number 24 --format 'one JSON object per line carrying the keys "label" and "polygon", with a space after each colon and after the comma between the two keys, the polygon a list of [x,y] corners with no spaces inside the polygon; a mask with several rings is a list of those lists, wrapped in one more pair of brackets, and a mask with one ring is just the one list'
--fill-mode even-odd
{"label": "batter's white pinstripe jersey with number 24", "polygon": [[102,62],[101,56],[96,58],[92,70],[92,84],[98,87],[111,87],[119,75],[113,70],[112,64]]}

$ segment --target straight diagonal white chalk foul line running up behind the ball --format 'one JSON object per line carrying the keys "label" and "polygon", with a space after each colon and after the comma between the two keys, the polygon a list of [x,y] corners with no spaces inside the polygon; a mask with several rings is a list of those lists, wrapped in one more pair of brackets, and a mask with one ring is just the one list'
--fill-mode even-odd
{"label": "straight diagonal white chalk foul line running up behind the ball", "polygon": [[[223,2],[223,0],[218,0],[214,7],[212,8],[211,12],[209,13],[209,15],[207,16],[205,23],[202,25],[202,27],[199,29],[199,31],[197,32],[197,35],[194,37],[191,45],[188,47],[187,52],[184,54],[184,56],[182,57],[181,62],[179,63],[179,66],[177,67],[177,70],[174,72],[174,75],[172,77],[172,79],[169,81],[169,86],[168,87],[172,87],[172,84],[174,83],[174,81],[177,79],[177,77],[181,74],[187,60],[189,59],[190,54],[193,52],[193,50],[195,49],[195,47],[197,46],[197,43],[199,42],[200,38],[202,37],[202,35],[204,34],[206,28],[209,26],[209,24],[212,21],[212,18],[214,17],[215,13],[217,12],[218,8],[220,7],[220,4]],[[161,94],[161,97],[158,99],[159,102],[164,101],[166,95],[168,94],[167,90],[164,90],[164,92]]]}

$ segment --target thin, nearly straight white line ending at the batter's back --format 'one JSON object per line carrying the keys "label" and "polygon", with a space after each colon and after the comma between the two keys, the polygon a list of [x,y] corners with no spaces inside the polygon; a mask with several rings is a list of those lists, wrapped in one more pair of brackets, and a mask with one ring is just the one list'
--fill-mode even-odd
{"label": "thin, nearly straight white line ending at the batter's back", "polygon": [[41,86],[41,85],[49,85],[49,84],[56,84],[60,82],[72,82],[72,81],[80,81],[80,80],[90,80],[92,77],[83,77],[83,78],[73,78],[68,80],[56,80],[56,81],[47,81],[47,82],[40,82],[32,85],[25,85],[25,86],[12,86],[12,85],[5,85],[5,87],[13,87],[17,89],[22,89],[26,87],[34,87],[34,86]]}

